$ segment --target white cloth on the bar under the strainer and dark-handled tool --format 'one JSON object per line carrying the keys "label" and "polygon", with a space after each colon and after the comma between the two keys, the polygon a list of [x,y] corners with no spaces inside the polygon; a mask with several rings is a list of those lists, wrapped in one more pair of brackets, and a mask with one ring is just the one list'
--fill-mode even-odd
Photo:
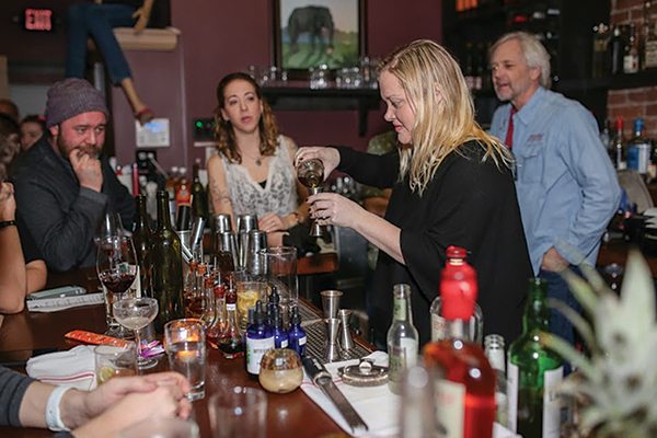
{"label": "white cloth on the bar under the strainer and dark-handled tool", "polygon": [[[373,359],[376,365],[387,367],[388,354],[374,351],[367,356]],[[344,431],[354,437],[396,437],[399,435],[399,408],[401,396],[393,394],[388,384],[370,388],[358,388],[346,384],[337,377],[337,369],[346,365],[357,365],[358,360],[346,360],[342,362],[326,364],[326,370],[333,376],[333,382],[342,391],[358,415],[369,427],[367,431],[351,430],[333,402],[316,388],[308,374],[303,373],[301,390],[320,406]],[[521,438],[506,427],[495,423],[493,425],[493,438]]]}

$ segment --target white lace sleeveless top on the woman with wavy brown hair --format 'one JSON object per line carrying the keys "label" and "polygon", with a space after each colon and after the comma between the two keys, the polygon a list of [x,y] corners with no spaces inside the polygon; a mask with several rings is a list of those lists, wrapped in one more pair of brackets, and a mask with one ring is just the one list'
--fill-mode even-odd
{"label": "white lace sleeveless top on the woman with wavy brown hair", "polygon": [[275,212],[286,216],[299,207],[297,176],[292,171],[292,162],[283,136],[278,137],[278,145],[274,155],[269,158],[265,188],[251,177],[246,168],[231,163],[223,154],[219,154],[226,169],[226,184],[233,215],[256,215],[262,218]]}

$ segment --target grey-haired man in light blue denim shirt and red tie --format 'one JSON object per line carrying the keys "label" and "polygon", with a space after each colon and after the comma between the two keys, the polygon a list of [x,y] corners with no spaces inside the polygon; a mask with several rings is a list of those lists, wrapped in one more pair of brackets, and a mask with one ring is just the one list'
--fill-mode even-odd
{"label": "grey-haired man in light blue denim shirt and red tie", "polygon": [[[591,114],[550,91],[550,55],[537,37],[504,35],[491,48],[491,68],[497,97],[508,102],[495,111],[491,134],[517,160],[516,189],[534,274],[548,280],[549,297],[578,310],[557,272],[596,265],[621,197],[616,174]],[[550,331],[574,341],[572,324],[556,311]]]}

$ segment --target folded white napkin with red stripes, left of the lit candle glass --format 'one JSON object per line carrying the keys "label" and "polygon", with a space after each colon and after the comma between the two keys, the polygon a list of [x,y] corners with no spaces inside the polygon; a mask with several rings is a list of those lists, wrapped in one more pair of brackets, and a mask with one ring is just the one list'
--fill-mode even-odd
{"label": "folded white napkin with red stripes, left of the lit candle glass", "polygon": [[44,383],[73,387],[82,391],[95,388],[93,346],[78,345],[67,351],[33,357],[25,366],[27,376]]}

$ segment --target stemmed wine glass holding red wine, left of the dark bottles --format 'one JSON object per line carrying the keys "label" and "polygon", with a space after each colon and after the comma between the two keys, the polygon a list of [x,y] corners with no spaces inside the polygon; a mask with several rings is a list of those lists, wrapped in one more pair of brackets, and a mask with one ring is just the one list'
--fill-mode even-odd
{"label": "stemmed wine glass holding red wine, left of the dark bottles", "polygon": [[99,242],[96,270],[104,286],[105,318],[107,336],[126,338],[130,333],[114,319],[114,301],[119,301],[123,295],[132,286],[137,276],[137,255],[132,239],[127,235],[112,235]]}

